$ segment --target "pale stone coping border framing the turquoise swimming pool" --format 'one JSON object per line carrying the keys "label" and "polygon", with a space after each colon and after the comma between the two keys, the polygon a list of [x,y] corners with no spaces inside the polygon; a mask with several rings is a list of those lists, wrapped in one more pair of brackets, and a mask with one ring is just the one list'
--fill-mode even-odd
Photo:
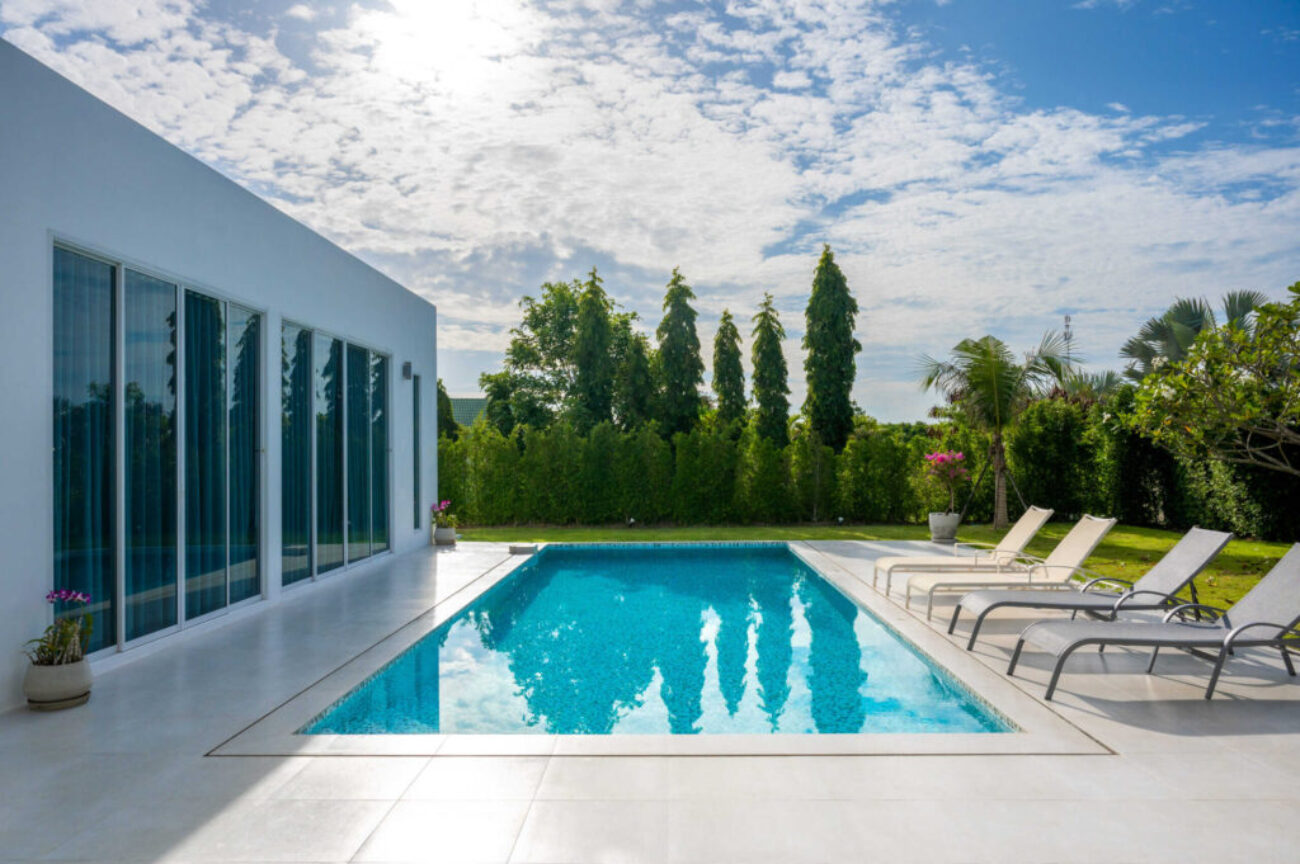
{"label": "pale stone coping border framing the turquoise swimming pool", "polygon": [[[664,543],[658,546],[785,546],[858,607],[946,670],[1017,730],[1005,733],[850,733],[783,735],[299,734],[299,729],[398,655],[507,578],[532,555],[512,555],[455,594],[295,694],[208,752],[209,756],[874,756],[1109,755],[1109,747],[997,674],[902,607],[871,590],[807,540]],[[625,546],[542,543],[547,546]],[[636,544],[644,546],[644,544]]]}

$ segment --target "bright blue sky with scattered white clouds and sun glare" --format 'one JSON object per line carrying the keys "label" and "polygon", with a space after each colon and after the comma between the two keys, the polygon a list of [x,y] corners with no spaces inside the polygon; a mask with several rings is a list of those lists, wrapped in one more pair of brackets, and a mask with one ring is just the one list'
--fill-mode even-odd
{"label": "bright blue sky with scattered white clouds and sun glare", "polygon": [[[0,0],[0,38],[438,305],[452,395],[519,300],[599,269],[653,334],[672,268],[776,296],[790,387],[831,244],[857,404],[918,359],[1300,281],[1295,0]],[[710,370],[706,370],[706,383]]]}

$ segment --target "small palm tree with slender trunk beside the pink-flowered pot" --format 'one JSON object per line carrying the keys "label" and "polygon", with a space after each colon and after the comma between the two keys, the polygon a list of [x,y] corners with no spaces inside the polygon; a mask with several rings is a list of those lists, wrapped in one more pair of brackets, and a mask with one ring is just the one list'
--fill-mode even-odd
{"label": "small palm tree with slender trunk beside the pink-flowered pot", "polygon": [[1006,450],[1004,430],[1036,396],[1044,395],[1070,369],[1066,342],[1046,333],[1039,347],[1018,362],[996,337],[965,339],[949,360],[920,359],[924,390],[937,390],[957,413],[989,434],[988,459],[993,466],[993,527],[1010,525],[1006,515]]}

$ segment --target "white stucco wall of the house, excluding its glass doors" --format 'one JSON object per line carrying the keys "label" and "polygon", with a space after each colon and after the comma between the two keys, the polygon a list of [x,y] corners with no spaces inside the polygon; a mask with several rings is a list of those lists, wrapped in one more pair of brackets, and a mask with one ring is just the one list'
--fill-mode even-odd
{"label": "white stucco wall of the house, excluding its glass doors", "polygon": [[428,542],[412,524],[412,386],[402,365],[421,378],[425,512],[437,489],[434,307],[0,40],[0,709],[22,703],[20,650],[49,620],[56,239],[265,313],[268,602],[280,595],[285,318],[391,357],[393,548]]}

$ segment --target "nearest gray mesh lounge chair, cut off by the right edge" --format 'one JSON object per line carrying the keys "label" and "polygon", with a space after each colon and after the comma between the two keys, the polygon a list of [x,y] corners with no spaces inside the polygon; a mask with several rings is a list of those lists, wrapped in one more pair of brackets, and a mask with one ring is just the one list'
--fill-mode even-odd
{"label": "nearest gray mesh lounge chair, cut off by the right edge", "polygon": [[[1208,611],[1218,615],[1212,624],[1196,624],[1175,620],[1192,611]],[[1057,657],[1052,680],[1048,682],[1046,698],[1056,692],[1061,668],[1076,650],[1086,644],[1105,648],[1108,644],[1154,648],[1150,654],[1149,673],[1156,667],[1161,648],[1218,650],[1214,657],[1214,673],[1205,687],[1205,698],[1214,695],[1223,663],[1236,648],[1279,648],[1287,673],[1295,676],[1290,648],[1282,642],[1287,635],[1296,635],[1300,625],[1300,543],[1282,556],[1271,570],[1251,589],[1244,598],[1230,609],[1216,609],[1199,603],[1184,603],[1170,609],[1162,622],[1131,621],[1039,621],[1020,633],[1015,643],[1011,664],[1006,674],[1015,672],[1024,643],[1035,644]],[[1205,655],[1201,655],[1205,656]]]}

